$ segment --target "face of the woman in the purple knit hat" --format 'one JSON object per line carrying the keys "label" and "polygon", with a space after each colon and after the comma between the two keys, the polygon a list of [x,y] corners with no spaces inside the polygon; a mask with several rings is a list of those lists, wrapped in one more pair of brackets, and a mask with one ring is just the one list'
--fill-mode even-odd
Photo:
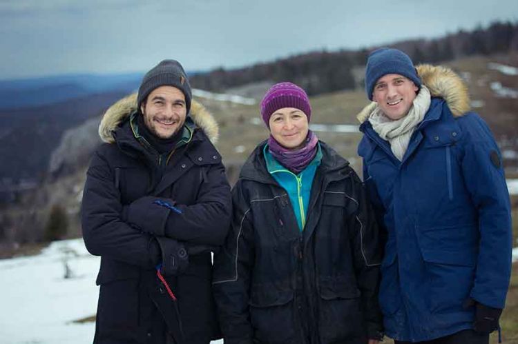
{"label": "face of the woman in the purple knit hat", "polygon": [[309,130],[306,114],[296,108],[282,108],[271,114],[269,119],[271,136],[289,150],[305,145]]}

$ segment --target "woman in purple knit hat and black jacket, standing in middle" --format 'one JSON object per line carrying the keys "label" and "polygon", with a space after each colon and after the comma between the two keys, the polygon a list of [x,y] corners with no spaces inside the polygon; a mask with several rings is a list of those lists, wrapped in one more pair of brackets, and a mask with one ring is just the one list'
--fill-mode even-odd
{"label": "woman in purple knit hat and black jacket, standing in middle", "polygon": [[224,343],[378,343],[380,238],[360,179],[309,130],[302,88],[272,86],[261,116],[270,136],[243,165],[214,262]]}

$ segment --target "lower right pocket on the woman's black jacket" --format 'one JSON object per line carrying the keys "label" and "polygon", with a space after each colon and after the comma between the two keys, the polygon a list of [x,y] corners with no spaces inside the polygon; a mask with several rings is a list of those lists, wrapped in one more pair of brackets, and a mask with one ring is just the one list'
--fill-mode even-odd
{"label": "lower right pocket on the woman's black jacket", "polygon": [[320,279],[318,332],[321,343],[349,343],[363,335],[360,296],[351,279]]}

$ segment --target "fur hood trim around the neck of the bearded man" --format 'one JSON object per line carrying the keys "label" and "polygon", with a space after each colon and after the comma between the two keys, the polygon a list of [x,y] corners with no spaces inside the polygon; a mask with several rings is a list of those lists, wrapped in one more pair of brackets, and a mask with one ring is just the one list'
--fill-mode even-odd
{"label": "fur hood trim around the neck of the bearded man", "polygon": [[[132,112],[137,110],[137,93],[130,94],[128,97],[120,99],[117,103],[111,105],[102,117],[99,124],[99,136],[106,143],[114,143],[113,130],[126,119]],[[191,111],[189,116],[194,123],[203,130],[212,143],[218,141],[219,128],[213,115],[201,103],[193,100],[191,103]]]}

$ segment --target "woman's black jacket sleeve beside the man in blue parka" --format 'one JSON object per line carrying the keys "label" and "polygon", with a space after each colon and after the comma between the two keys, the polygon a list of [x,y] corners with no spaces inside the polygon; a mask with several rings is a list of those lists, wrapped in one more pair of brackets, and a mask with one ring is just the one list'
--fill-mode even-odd
{"label": "woman's black jacket sleeve beside the man in blue parka", "polygon": [[352,228],[356,281],[361,292],[367,336],[379,339],[383,338],[383,320],[378,303],[383,240],[365,186],[353,174],[352,194],[356,210],[349,215],[347,222]]}

